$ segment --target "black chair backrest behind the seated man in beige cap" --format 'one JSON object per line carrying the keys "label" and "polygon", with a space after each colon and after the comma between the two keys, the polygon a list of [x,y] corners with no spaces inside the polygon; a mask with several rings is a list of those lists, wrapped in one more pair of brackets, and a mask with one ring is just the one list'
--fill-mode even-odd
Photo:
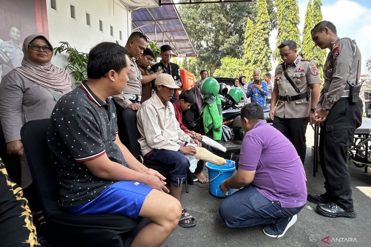
{"label": "black chair backrest behind the seated man in beige cap", "polygon": [[128,149],[135,158],[138,158],[142,153],[138,142],[141,136],[137,127],[137,111],[127,108],[122,111],[122,118],[128,138]]}

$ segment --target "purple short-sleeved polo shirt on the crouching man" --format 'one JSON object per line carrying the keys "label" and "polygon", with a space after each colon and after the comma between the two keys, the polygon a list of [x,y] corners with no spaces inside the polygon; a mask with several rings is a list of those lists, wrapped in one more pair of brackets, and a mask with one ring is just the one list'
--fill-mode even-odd
{"label": "purple short-sleeved polo shirt on the crouching man", "polygon": [[248,131],[242,142],[239,169],[255,171],[252,185],[282,207],[300,207],[306,202],[303,164],[292,143],[265,120]]}

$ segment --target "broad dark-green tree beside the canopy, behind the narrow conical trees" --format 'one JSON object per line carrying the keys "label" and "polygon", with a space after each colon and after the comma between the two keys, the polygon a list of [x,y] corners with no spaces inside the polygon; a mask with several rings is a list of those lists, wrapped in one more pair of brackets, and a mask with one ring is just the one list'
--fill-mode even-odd
{"label": "broad dark-green tree beside the canopy, behind the narrow conical trees", "polygon": [[[181,0],[188,1],[188,0]],[[243,56],[243,33],[247,18],[256,19],[256,3],[186,4],[179,13],[190,39],[198,53],[197,68],[207,69],[212,74],[220,66],[221,57]],[[269,28],[276,27],[273,0],[267,0]]]}

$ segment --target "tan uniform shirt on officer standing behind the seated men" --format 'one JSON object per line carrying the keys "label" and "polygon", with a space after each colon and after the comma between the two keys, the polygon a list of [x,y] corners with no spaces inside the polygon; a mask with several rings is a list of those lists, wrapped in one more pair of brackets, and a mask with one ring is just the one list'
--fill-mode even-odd
{"label": "tan uniform shirt on officer standing behind the seated men", "polygon": [[129,104],[132,103],[129,99],[127,99],[126,94],[142,95],[142,84],[140,82],[140,79],[142,79],[142,74],[133,58],[130,59],[130,73],[128,74],[128,77],[128,83],[126,84],[124,90],[122,90],[122,93],[113,96],[116,103],[125,109]]}

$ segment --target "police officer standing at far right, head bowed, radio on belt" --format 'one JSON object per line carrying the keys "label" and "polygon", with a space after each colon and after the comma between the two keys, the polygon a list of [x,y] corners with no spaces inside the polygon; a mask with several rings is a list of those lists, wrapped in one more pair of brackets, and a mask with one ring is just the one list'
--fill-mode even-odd
{"label": "police officer standing at far right, head bowed, radio on belt", "polygon": [[308,194],[308,200],[319,204],[317,210],[324,216],[355,218],[348,148],[353,143],[355,129],[362,123],[362,100],[355,92],[356,102],[351,102],[347,81],[358,83],[361,53],[355,40],[338,37],[336,27],[330,21],[316,24],[311,35],[316,46],[328,48],[330,52],[324,65],[325,83],[315,113],[316,122],[321,124],[319,157],[326,192]]}

